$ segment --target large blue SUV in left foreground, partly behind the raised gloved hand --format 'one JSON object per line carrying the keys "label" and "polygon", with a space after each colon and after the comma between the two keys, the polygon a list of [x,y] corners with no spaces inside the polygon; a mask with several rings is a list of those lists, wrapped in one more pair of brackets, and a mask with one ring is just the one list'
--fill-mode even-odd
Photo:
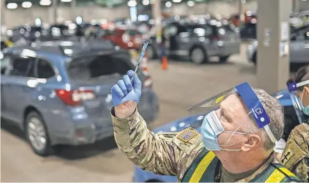
{"label": "large blue SUV in left foreground, partly behind the raised gloved hand", "polygon": [[[41,42],[3,49],[1,117],[19,125],[38,155],[56,144],[94,143],[113,135],[110,88],[130,69],[128,51],[106,42]],[[139,112],[158,114],[152,79],[142,80]]]}

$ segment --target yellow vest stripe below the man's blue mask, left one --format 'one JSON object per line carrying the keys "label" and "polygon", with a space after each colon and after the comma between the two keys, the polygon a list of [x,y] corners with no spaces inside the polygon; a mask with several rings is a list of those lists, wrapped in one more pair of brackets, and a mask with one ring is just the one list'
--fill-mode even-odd
{"label": "yellow vest stripe below the man's blue mask, left one", "polygon": [[208,168],[209,164],[212,162],[212,159],[214,159],[216,156],[212,151],[207,153],[205,157],[199,162],[199,165],[194,170],[194,173],[192,174],[192,177],[190,178],[189,182],[199,182],[201,180],[201,177],[203,176],[203,173]]}

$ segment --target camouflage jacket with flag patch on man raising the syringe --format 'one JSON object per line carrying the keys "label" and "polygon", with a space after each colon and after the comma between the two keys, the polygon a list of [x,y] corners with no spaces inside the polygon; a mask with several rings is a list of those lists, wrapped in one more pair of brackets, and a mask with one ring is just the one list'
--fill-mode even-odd
{"label": "camouflage jacket with flag patch on man raising the syringe", "polygon": [[[118,119],[114,115],[112,109],[112,123],[119,150],[144,171],[158,175],[176,175],[180,181],[187,168],[204,148],[201,134],[193,128],[178,133],[154,134],[147,129],[146,122],[137,110],[128,119]],[[269,166],[270,162],[277,163],[276,159],[271,157],[253,175],[238,182],[253,180]]]}

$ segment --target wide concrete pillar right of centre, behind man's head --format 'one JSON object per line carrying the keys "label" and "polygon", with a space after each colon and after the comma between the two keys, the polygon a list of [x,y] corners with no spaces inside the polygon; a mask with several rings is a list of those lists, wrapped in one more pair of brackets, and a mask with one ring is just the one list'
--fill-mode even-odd
{"label": "wide concrete pillar right of centre, behind man's head", "polygon": [[272,94],[286,88],[291,0],[258,0],[258,87]]}

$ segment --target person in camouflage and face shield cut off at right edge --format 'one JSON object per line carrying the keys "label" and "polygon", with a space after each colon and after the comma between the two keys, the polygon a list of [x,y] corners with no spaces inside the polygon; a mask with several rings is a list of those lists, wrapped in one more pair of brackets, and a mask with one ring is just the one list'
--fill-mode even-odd
{"label": "person in camouflage and face shield cut off at right edge", "polygon": [[302,83],[302,86],[298,85],[295,90],[296,100],[301,106],[298,107],[297,103],[294,103],[294,107],[300,116],[299,120],[302,120],[299,123],[304,122],[297,125],[287,139],[281,164],[290,169],[302,182],[309,182],[309,65],[301,67],[294,77],[287,81],[287,85],[290,83]]}

